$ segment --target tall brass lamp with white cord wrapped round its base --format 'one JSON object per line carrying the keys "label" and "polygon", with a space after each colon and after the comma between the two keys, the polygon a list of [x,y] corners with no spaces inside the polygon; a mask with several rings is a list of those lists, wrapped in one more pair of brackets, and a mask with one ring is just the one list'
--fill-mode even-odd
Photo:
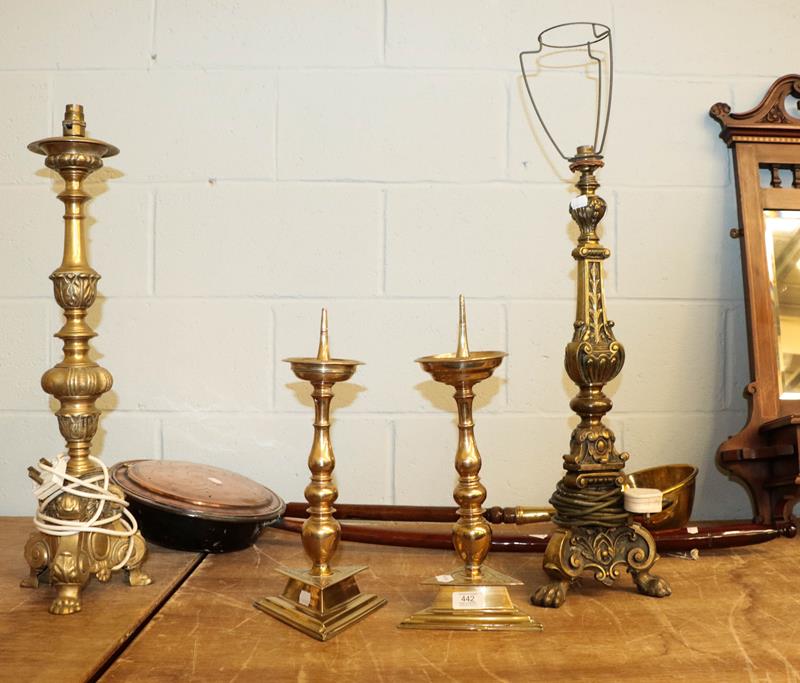
{"label": "tall brass lamp with white cord wrapped round its base", "polygon": [[64,360],[44,373],[42,388],[60,402],[58,427],[67,442],[68,459],[56,465],[39,461],[28,468],[39,485],[39,529],[25,546],[31,567],[23,586],[36,587],[39,575],[49,570],[58,595],[50,606],[54,614],[81,609],[80,592],[94,574],[108,581],[114,570],[125,568],[131,585],[147,585],[142,571],[146,548],[135,520],[125,510],[119,487],[109,484],[108,471],[91,455],[100,411],[95,402],[111,388],[111,373],[89,357],[89,340],[95,332],[86,324],[88,309],[97,294],[100,276],[86,260],[83,206],[89,195],[86,177],[101,168],[103,158],[119,150],[86,137],[83,107],[66,107],[61,137],[32,142],[28,149],[43,154],[45,165],[65,183],[58,198],[64,203],[64,258],[50,279],[66,323],[56,333],[64,342]]}

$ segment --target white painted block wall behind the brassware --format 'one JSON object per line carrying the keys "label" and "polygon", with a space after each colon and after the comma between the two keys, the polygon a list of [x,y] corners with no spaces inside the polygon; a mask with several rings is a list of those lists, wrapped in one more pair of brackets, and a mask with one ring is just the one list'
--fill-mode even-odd
{"label": "white painted block wall behind the brassware", "polygon": [[573,190],[517,53],[595,20],[617,57],[600,181],[627,362],[610,423],[634,469],[700,466],[698,517],[749,514],[713,464],[744,420],[747,358],[707,112],[797,70],[794,0],[4,4],[0,513],[32,511],[25,469],[62,445],[39,388],[60,358],[61,208],[25,146],[68,102],[122,150],[91,183],[106,462],[207,462],[299,499],[310,400],[281,359],[315,351],[326,305],[335,353],[366,362],[334,403],[340,500],[446,504],[452,401],[413,359],[453,347],[463,292],[473,346],[510,352],[478,390],[488,503],[545,503],[574,424]]}

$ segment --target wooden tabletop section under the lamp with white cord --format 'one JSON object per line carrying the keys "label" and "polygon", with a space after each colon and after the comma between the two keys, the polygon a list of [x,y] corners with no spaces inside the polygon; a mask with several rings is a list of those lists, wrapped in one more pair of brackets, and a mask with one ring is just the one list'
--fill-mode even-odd
{"label": "wooden tabletop section under the lamp with white cord", "polygon": [[149,546],[149,586],[129,586],[119,572],[107,584],[92,580],[83,610],[47,611],[49,585],[20,588],[28,573],[22,550],[33,531],[29,517],[0,519],[0,680],[71,683],[90,678],[127,641],[201,557]]}

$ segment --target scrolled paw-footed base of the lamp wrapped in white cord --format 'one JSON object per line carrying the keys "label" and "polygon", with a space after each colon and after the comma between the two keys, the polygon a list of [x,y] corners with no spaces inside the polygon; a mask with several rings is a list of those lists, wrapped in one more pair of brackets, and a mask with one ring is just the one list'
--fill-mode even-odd
{"label": "scrolled paw-footed base of the lamp wrapped in white cord", "polygon": [[[122,524],[109,525],[115,531],[124,531]],[[108,536],[94,532],[80,532],[70,536],[52,536],[35,531],[25,544],[25,560],[30,575],[20,585],[38,588],[40,580],[49,579],[56,589],[56,598],[50,605],[51,614],[74,614],[81,611],[81,591],[94,575],[101,583],[111,579],[113,567],[125,557],[128,543],[133,552],[125,564],[125,573],[131,586],[147,586],[152,579],[142,564],[147,546],[139,532],[133,536]]]}

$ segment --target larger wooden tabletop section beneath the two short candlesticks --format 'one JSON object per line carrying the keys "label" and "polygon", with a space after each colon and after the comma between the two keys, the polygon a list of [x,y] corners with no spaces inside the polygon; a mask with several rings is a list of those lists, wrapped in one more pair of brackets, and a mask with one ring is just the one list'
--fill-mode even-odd
{"label": "larger wooden tabletop section beneath the two short candlesticks", "polygon": [[[538,530],[532,530],[538,533]],[[543,633],[401,631],[435,588],[420,579],[455,568],[451,552],[343,543],[336,563],[369,564],[362,591],[386,607],[320,643],[252,607],[304,567],[296,534],[267,530],[256,546],[209,556],[110,667],[104,681],[797,681],[800,539],[663,557],[672,597],[638,595],[589,576],[558,610],[528,603],[541,555],[488,563],[525,582],[512,597]]]}

